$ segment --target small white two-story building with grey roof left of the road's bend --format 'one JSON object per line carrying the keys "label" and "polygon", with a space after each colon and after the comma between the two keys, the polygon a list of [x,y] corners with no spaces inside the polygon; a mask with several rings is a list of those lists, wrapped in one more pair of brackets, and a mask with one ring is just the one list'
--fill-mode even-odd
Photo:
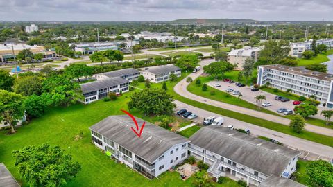
{"label": "small white two-story building with grey roof left of the road's bend", "polygon": [[182,75],[182,69],[173,64],[167,64],[164,66],[152,66],[147,67],[141,74],[144,76],[144,79],[148,79],[151,82],[163,82],[167,81],[170,78],[171,73],[175,74],[177,77]]}

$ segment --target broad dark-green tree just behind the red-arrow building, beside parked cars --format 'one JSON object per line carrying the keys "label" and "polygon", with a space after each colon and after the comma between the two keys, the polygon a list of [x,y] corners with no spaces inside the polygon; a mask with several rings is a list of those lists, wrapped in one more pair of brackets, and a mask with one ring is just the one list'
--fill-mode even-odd
{"label": "broad dark-green tree just behind the red-arrow building, beside parked cars", "polygon": [[128,109],[138,109],[146,115],[171,114],[176,105],[164,89],[144,89],[130,96]]}

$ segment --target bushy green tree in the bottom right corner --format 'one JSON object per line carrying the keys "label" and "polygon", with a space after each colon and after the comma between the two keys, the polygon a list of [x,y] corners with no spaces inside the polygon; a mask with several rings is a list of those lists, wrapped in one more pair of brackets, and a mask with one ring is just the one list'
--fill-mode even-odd
{"label": "bushy green tree in the bottom right corner", "polygon": [[333,166],[327,161],[309,161],[306,171],[309,186],[333,186]]}

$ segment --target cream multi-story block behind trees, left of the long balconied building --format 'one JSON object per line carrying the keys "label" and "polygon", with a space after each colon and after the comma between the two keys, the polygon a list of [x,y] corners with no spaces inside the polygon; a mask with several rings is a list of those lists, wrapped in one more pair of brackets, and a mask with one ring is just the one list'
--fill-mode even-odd
{"label": "cream multi-story block behind trees, left of the long balconied building", "polygon": [[237,64],[237,69],[243,69],[243,64],[247,58],[252,58],[257,62],[259,58],[259,51],[261,51],[262,48],[260,47],[249,47],[246,46],[241,49],[232,49],[230,53],[228,54],[228,62],[231,64]]}

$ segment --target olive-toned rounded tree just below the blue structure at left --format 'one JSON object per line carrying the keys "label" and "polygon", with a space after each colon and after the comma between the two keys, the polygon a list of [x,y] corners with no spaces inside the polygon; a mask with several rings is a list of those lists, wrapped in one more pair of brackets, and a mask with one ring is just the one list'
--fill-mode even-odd
{"label": "olive-toned rounded tree just below the blue structure at left", "polygon": [[14,91],[23,96],[31,96],[33,94],[40,96],[42,94],[43,81],[44,78],[36,75],[18,78],[14,85]]}

